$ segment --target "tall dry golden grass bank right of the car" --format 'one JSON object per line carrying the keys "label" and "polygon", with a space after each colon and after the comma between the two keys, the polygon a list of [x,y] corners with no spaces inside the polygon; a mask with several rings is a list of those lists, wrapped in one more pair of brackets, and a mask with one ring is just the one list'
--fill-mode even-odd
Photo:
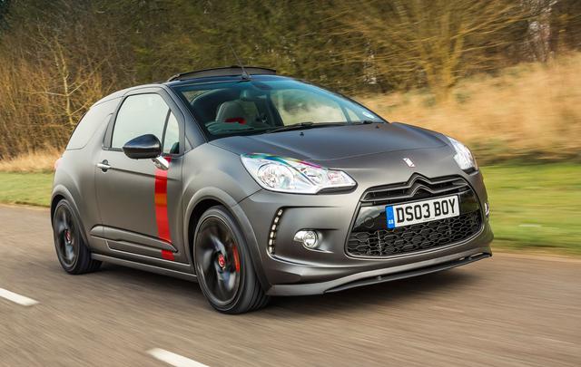
{"label": "tall dry golden grass bank right of the car", "polygon": [[581,161],[581,53],[458,82],[447,101],[426,91],[359,98],[389,121],[446,133],[482,163]]}

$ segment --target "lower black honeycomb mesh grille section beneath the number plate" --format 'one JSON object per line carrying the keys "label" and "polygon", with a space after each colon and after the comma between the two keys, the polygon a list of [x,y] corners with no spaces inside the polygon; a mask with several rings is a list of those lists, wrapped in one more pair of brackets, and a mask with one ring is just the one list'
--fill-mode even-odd
{"label": "lower black honeycomb mesh grille section beneath the number plate", "polygon": [[351,232],[347,251],[353,256],[390,256],[446,246],[472,237],[480,229],[480,212],[407,227]]}

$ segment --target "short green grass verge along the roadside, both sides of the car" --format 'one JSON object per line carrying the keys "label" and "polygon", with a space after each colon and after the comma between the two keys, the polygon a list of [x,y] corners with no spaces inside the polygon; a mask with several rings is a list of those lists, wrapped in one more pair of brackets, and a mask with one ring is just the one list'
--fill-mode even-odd
{"label": "short green grass verge along the roadside, both sides of the car", "polygon": [[[496,248],[581,255],[581,164],[482,168]],[[0,172],[0,202],[48,206],[51,173]]]}

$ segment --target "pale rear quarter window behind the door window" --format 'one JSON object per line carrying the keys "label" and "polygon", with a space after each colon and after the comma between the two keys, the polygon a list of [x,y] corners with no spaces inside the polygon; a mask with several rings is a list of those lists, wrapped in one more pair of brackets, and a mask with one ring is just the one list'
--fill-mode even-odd
{"label": "pale rear quarter window behind the door window", "polygon": [[73,135],[71,135],[71,139],[66,146],[66,150],[83,149],[89,140],[91,140],[99,126],[103,126],[109,121],[111,114],[115,110],[115,107],[117,107],[117,103],[119,103],[119,99],[104,101],[87,111],[83,119],[76,125]]}

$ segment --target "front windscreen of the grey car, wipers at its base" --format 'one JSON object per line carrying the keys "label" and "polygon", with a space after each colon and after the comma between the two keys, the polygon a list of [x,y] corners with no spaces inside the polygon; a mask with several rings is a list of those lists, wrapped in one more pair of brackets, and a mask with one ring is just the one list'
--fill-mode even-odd
{"label": "front windscreen of the grey car, wipers at its base", "polygon": [[324,126],[383,122],[354,101],[292,79],[252,79],[174,86],[211,139]]}

